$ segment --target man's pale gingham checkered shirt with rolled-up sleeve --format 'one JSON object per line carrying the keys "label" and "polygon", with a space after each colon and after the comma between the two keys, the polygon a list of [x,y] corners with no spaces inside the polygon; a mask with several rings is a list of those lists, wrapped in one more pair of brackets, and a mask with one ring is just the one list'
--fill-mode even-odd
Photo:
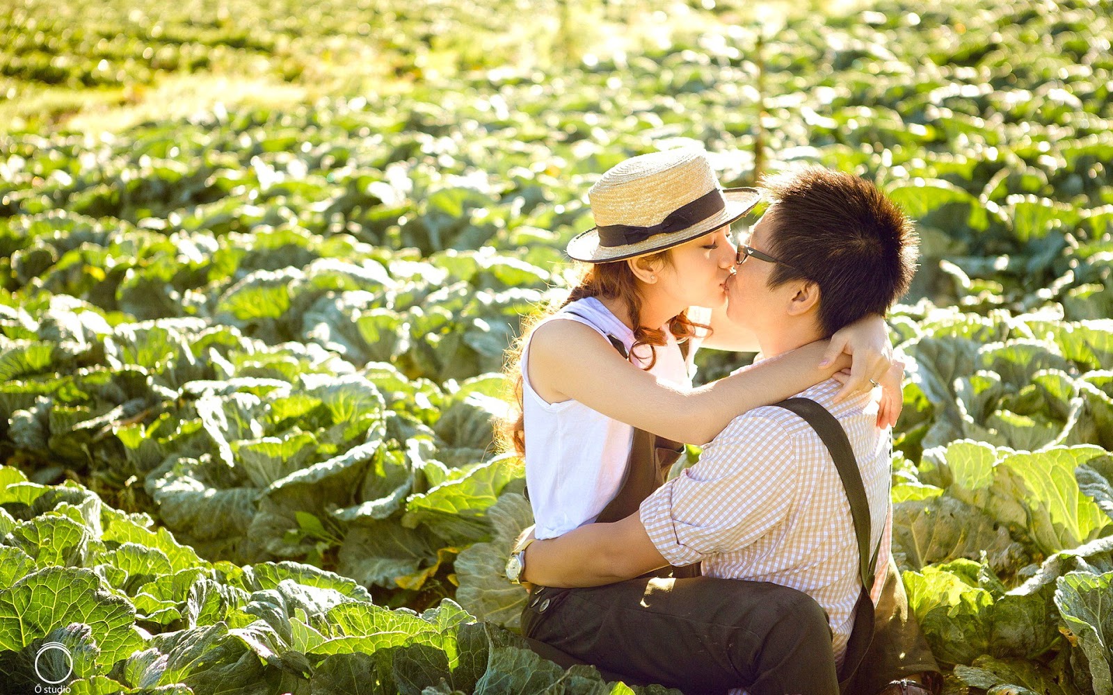
{"label": "man's pale gingham checkered shirt with rolled-up sleeve", "polygon": [[[835,380],[799,396],[827,408],[854,448],[878,537],[874,603],[884,584],[892,537],[892,435],[875,425],[869,395],[835,405]],[[771,582],[799,589],[827,612],[835,657],[843,662],[860,592],[858,543],[850,503],[827,447],[810,425],[778,407],[756,408],[730,423],[695,466],[641,504],[641,523],[672,565],[702,562],[705,576]]]}

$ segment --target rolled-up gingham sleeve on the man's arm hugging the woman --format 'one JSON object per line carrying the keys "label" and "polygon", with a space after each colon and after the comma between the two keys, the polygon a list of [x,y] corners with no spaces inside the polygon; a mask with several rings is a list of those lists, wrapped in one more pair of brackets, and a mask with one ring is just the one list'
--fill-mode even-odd
{"label": "rolled-up gingham sleeve on the man's arm hugging the woman", "polygon": [[787,518],[797,443],[776,417],[759,411],[735,418],[698,464],[642,502],[641,523],[670,564],[748,546]]}

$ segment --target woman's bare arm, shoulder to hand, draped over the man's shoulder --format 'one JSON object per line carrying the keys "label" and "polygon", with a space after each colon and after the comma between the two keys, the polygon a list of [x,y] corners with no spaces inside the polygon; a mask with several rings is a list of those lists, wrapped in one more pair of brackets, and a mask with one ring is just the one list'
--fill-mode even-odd
{"label": "woman's bare arm, shoulder to hand, draped over the man's shoulder", "polygon": [[[850,366],[845,355],[828,366],[827,341],[817,341],[695,389],[659,381],[634,367],[594,329],[549,321],[530,341],[530,383],[550,403],[575,399],[593,410],[656,435],[706,444],[738,415],[775,404]],[[845,389],[844,389],[845,390]]]}

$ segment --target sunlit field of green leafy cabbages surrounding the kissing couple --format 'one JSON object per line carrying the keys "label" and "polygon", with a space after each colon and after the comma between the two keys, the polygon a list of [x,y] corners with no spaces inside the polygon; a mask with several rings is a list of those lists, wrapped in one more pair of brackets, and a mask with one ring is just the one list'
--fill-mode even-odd
{"label": "sunlit field of green leafy cabbages surrounding the kissing couple", "polygon": [[[1113,695],[1111,18],[0,3],[0,693],[664,693],[523,647],[491,417],[594,178],[702,145],[917,220],[894,553],[947,693]],[[249,70],[314,96],[65,106]]]}

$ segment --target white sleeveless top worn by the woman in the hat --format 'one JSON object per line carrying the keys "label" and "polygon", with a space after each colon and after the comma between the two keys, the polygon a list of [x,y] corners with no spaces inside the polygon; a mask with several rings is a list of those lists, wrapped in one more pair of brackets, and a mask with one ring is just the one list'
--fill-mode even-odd
{"label": "white sleeveless top worn by the woman in the hat", "polygon": [[[573,316],[570,310],[584,318]],[[628,351],[633,345],[633,331],[594,297],[569,304],[542,324],[552,320],[573,320],[591,326],[604,338],[610,334],[621,340]],[[692,339],[686,361],[676,338],[668,330],[664,332],[668,345],[654,348],[657,364],[649,373],[662,381],[691,387],[695,371],[691,360],[701,339]],[[633,427],[578,400],[546,403],[530,385],[529,349],[526,341],[521,363],[525,481],[530,488],[536,537],[554,538],[594,522],[618,494]],[[641,368],[648,364],[649,350],[649,346],[639,346],[633,365]]]}

